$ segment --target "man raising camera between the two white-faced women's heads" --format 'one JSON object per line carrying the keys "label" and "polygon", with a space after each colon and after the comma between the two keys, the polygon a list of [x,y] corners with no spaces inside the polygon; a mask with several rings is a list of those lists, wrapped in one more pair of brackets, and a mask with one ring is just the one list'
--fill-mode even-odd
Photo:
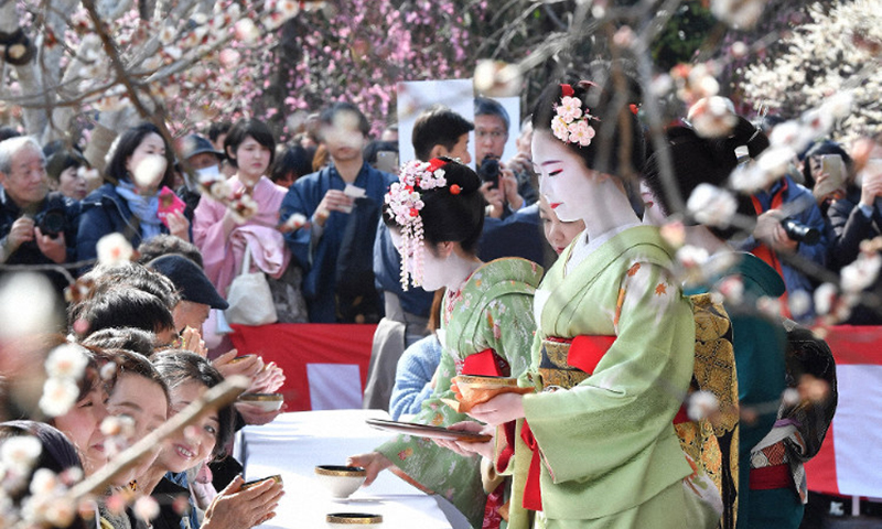
{"label": "man raising camera between the two white-faced women's heads", "polygon": [[493,99],[475,98],[475,160],[488,215],[507,217],[538,198],[527,173],[515,174],[499,160],[508,141],[508,112]]}

